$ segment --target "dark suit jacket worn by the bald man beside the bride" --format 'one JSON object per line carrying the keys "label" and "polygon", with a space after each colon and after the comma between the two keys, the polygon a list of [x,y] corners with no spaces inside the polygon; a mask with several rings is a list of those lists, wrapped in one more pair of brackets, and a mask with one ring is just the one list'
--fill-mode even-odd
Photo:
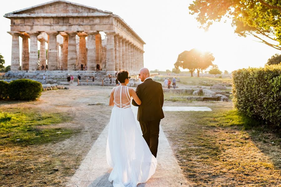
{"label": "dark suit jacket worn by the bald man beside the bride", "polygon": [[136,88],[136,94],[141,99],[141,105],[134,100],[132,104],[138,106],[138,121],[153,121],[164,118],[162,110],[164,94],[162,84],[152,79],[146,79]]}

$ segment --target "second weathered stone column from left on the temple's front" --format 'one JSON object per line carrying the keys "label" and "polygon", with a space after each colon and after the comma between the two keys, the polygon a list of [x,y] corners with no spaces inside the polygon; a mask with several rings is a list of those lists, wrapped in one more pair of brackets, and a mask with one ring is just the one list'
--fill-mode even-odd
{"label": "second weathered stone column from left on the temple's front", "polygon": [[39,33],[28,33],[30,36],[30,52],[29,52],[29,70],[38,70],[38,46],[37,36]]}

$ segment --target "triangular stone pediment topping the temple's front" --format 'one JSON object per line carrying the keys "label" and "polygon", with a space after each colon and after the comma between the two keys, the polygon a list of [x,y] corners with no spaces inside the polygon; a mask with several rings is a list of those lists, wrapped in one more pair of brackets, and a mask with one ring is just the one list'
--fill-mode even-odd
{"label": "triangular stone pediment topping the temple's front", "polygon": [[20,15],[77,15],[77,14],[111,14],[109,11],[102,11],[94,7],[68,2],[64,0],[55,0],[37,6],[25,8],[5,14],[5,17],[17,17]]}

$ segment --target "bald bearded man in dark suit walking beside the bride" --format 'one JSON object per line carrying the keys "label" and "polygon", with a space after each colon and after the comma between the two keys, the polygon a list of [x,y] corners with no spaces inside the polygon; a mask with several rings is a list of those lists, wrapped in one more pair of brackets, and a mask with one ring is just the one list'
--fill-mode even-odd
{"label": "bald bearded man in dark suit walking beside the bride", "polygon": [[164,103],[164,94],[162,84],[150,78],[147,68],[141,68],[139,77],[143,83],[136,88],[136,94],[141,99],[141,105],[134,100],[132,104],[138,106],[138,121],[141,124],[142,136],[150,148],[151,153],[157,155],[159,125],[160,120],[164,118],[162,110]]}

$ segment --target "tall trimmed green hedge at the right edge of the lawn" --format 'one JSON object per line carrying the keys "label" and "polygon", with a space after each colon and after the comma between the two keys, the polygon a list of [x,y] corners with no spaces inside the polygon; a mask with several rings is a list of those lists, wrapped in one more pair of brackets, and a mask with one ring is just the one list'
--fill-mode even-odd
{"label": "tall trimmed green hedge at the right edge of the lawn", "polygon": [[281,126],[281,65],[236,70],[232,82],[240,113]]}

